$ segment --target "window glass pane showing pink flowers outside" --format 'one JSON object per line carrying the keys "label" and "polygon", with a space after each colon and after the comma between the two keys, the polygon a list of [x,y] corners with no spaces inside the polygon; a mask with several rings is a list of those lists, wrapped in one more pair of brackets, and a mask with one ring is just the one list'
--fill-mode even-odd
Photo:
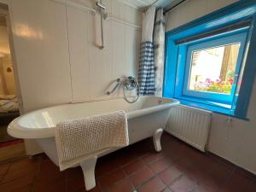
{"label": "window glass pane showing pink flowers outside", "polygon": [[189,90],[230,95],[240,45],[224,44],[192,51]]}

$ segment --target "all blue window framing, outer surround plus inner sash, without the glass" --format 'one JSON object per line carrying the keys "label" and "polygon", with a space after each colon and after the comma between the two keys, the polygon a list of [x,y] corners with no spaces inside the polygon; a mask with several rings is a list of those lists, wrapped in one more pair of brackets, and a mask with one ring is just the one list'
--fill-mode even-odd
{"label": "all blue window framing, outer surround plus inner sash, without the glass", "polygon": [[[256,72],[255,11],[256,1],[240,1],[166,32],[163,95],[185,105],[246,119]],[[194,53],[233,44],[239,49],[230,92],[191,89]]]}

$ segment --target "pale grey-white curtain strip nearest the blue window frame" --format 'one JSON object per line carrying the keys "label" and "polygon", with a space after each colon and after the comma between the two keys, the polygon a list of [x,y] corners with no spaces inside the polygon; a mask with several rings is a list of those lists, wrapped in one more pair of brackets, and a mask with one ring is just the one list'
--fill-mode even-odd
{"label": "pale grey-white curtain strip nearest the blue window frame", "polygon": [[162,96],[162,86],[164,79],[165,65],[165,17],[164,10],[159,9],[156,12],[154,22],[154,95]]}

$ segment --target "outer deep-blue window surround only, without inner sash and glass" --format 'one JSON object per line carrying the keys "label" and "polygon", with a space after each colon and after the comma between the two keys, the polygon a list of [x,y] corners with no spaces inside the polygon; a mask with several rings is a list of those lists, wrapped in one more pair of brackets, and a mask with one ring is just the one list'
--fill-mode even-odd
{"label": "outer deep-blue window surround only, without inner sash and glass", "polygon": [[[224,113],[231,116],[235,116],[240,119],[247,119],[247,108],[251,96],[251,90],[253,88],[253,82],[255,79],[256,65],[256,26],[255,22],[256,13],[256,0],[243,0],[237,3],[233,3],[224,9],[219,9],[210,15],[201,17],[200,19],[189,22],[186,25],[179,26],[176,29],[166,32],[166,60],[165,60],[165,78],[164,78],[164,90],[163,96],[175,97],[179,99],[183,104],[193,106],[196,108],[204,108],[217,113]],[[234,96],[232,100],[226,102],[215,101],[209,98],[203,98],[198,96],[189,96],[188,91],[184,90],[183,84],[186,74],[183,70],[180,70],[182,65],[180,63],[186,63],[186,56],[181,56],[179,53],[187,52],[189,44],[183,44],[182,46],[177,44],[184,38],[189,38],[204,32],[211,32],[218,28],[232,25],[242,20],[250,20],[251,24],[245,29],[238,30],[246,33],[242,44],[242,55],[240,59],[245,62],[243,77],[241,79],[241,87],[238,96]],[[229,34],[228,34],[229,35]],[[247,49],[247,57],[242,60],[244,55],[244,49]],[[237,70],[241,69],[241,61]],[[235,91],[236,87],[232,91]],[[226,107],[224,104],[229,104],[230,107]],[[236,104],[236,105],[235,105]]]}

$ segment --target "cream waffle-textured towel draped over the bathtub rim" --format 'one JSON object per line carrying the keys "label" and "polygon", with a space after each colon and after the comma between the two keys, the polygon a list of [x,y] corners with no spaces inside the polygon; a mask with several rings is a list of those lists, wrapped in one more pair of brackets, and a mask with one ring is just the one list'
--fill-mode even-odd
{"label": "cream waffle-textured towel draped over the bathtub rim", "polygon": [[104,149],[125,147],[129,144],[126,113],[62,121],[55,127],[55,143],[61,171]]}

